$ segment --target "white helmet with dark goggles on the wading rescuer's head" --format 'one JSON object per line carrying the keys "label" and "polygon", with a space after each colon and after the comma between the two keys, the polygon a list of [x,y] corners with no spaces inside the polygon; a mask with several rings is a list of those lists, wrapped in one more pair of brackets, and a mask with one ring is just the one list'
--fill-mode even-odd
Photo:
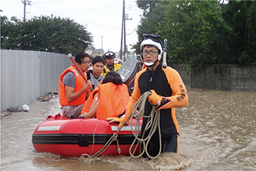
{"label": "white helmet with dark goggles on the wading rescuer's head", "polygon": [[159,56],[158,59],[159,61],[161,60],[161,55],[163,53],[163,48],[161,46],[161,41],[160,41],[160,35],[154,35],[154,34],[143,34],[144,39],[141,41],[141,47],[140,51],[142,50],[142,47],[145,45],[153,45],[159,50]]}

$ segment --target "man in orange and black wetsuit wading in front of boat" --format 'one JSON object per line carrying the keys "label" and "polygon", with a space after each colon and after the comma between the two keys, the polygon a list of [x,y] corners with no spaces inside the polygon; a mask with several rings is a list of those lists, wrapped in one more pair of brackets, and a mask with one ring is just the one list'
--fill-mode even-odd
{"label": "man in orange and black wetsuit wading in front of boat", "polygon": [[[159,143],[159,130],[153,134],[148,142],[147,152],[151,157],[161,152],[176,152],[179,150],[179,126],[176,120],[175,107],[185,107],[188,105],[188,94],[185,84],[179,73],[171,67],[163,67],[161,64],[162,44],[159,35],[144,34],[140,46],[141,61],[146,68],[137,73],[135,77],[135,86],[132,97],[127,106],[125,117],[107,118],[108,121],[120,122],[118,127],[124,124],[126,118],[132,113],[132,107],[135,102],[145,92],[150,91],[144,108],[144,115],[150,115],[153,105],[158,106],[160,110],[160,130],[161,144]],[[156,116],[155,116],[156,117]],[[141,135],[144,133],[148,118],[143,118]],[[150,133],[146,130],[144,138]],[[160,146],[161,145],[161,146]],[[144,158],[150,157],[146,152]]]}

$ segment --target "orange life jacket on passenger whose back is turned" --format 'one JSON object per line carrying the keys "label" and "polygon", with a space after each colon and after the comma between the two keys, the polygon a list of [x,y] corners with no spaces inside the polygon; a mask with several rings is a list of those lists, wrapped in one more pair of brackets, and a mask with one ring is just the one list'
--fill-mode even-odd
{"label": "orange life jacket on passenger whose back is turned", "polygon": [[127,108],[129,102],[129,92],[126,84],[115,85],[111,82],[100,84],[98,90],[94,90],[83,106],[82,114],[89,112],[93,101],[93,95],[98,92],[96,118],[106,119],[108,117],[117,117]]}

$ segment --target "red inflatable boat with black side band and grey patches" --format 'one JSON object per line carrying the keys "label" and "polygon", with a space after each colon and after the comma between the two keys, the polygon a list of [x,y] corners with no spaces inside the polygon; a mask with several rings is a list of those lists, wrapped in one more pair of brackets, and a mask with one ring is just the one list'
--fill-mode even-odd
{"label": "red inflatable boat with black side band and grey patches", "polygon": [[[140,121],[141,124],[142,121]],[[135,130],[135,120],[132,121]],[[97,118],[68,119],[61,113],[49,115],[42,124],[36,127],[32,135],[33,147],[37,152],[51,152],[68,157],[92,156],[98,152],[109,138],[118,131],[118,124],[109,124],[106,120]],[[122,127],[117,141],[100,155],[129,155],[129,147],[134,141],[130,125]],[[135,148],[133,145],[132,150]],[[135,150],[138,155],[139,147]]]}

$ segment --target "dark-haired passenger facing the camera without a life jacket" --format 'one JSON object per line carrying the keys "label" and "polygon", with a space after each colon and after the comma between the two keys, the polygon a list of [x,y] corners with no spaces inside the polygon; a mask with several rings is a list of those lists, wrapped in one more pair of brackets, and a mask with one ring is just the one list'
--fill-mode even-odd
{"label": "dark-haired passenger facing the camera without a life jacket", "polygon": [[92,81],[92,89],[95,88],[103,81],[104,76],[101,75],[104,67],[104,59],[101,56],[92,58],[92,70],[87,72],[87,77]]}

